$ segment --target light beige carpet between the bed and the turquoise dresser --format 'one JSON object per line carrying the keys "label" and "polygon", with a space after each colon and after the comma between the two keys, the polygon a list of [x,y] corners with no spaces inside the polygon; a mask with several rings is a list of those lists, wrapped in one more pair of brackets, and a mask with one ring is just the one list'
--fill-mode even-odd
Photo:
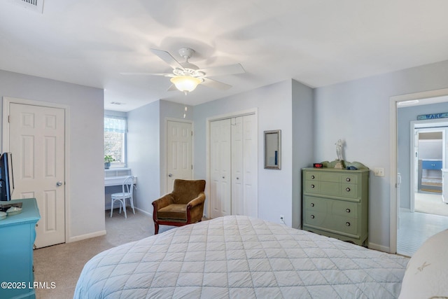
{"label": "light beige carpet between the bed and the turquoise dresser", "polygon": [[[55,283],[53,289],[36,289],[37,299],[73,298],[76,282],[87,260],[106,249],[154,235],[153,218],[150,216],[139,211],[134,215],[128,208],[125,218],[116,210],[112,218],[109,217],[110,210],[105,211],[105,236],[34,250],[34,281],[48,282],[48,286]],[[172,228],[160,225],[159,233]]]}

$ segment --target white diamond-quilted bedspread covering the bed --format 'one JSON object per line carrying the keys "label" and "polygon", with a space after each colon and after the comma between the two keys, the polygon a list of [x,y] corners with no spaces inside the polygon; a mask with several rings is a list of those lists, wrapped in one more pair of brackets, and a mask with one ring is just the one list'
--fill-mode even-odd
{"label": "white diamond-quilted bedspread covering the bed", "polygon": [[74,298],[397,298],[408,260],[226,216],[99,253]]}

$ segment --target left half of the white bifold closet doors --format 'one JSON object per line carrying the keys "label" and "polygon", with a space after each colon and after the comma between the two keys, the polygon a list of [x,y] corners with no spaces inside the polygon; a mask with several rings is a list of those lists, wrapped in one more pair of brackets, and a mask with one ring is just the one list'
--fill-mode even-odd
{"label": "left half of the white bifold closet doors", "polygon": [[230,119],[210,124],[210,214],[211,218],[232,214]]}

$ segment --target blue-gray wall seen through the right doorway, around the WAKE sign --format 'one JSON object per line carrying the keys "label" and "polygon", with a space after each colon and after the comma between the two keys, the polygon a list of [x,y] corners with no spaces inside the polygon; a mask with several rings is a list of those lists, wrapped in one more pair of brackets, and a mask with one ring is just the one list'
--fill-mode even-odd
{"label": "blue-gray wall seen through the right doorway, around the WAKE sign", "polygon": [[[447,84],[448,86],[448,84]],[[401,107],[397,113],[397,134],[398,134],[398,172],[401,174],[400,186],[400,207],[410,209],[411,193],[411,137],[410,124],[416,121],[417,116],[421,114],[448,112],[448,103],[428,104],[419,106]],[[448,121],[448,118],[447,118]],[[447,136],[447,135],[445,135]],[[447,146],[448,149],[448,146]],[[448,157],[448,155],[447,155]]]}

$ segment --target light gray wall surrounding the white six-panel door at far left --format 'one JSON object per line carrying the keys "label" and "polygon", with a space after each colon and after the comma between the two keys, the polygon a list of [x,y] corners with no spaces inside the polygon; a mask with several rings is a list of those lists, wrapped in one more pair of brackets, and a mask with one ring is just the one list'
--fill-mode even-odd
{"label": "light gray wall surrounding the white six-panel door at far left", "polygon": [[[105,233],[104,91],[0,71],[0,96],[69,106],[69,241]],[[0,118],[1,118],[0,114]],[[0,124],[3,120],[0,121]]]}

